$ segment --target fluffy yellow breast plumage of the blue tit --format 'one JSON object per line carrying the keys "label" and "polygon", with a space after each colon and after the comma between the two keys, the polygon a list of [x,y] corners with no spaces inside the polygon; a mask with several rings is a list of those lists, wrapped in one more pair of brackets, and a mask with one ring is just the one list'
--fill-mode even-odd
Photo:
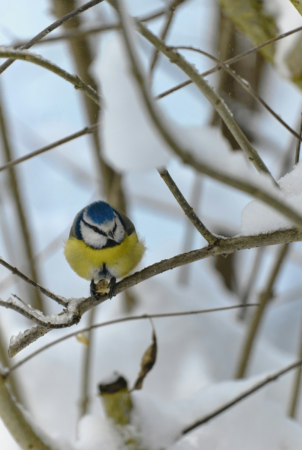
{"label": "fluffy yellow breast plumage of the blue tit", "polygon": [[71,269],[87,280],[93,279],[93,274],[103,264],[109,271],[115,271],[116,278],[125,277],[141,261],[145,250],[146,247],[135,232],[115,247],[95,249],[76,237],[70,237],[64,243],[64,255]]}

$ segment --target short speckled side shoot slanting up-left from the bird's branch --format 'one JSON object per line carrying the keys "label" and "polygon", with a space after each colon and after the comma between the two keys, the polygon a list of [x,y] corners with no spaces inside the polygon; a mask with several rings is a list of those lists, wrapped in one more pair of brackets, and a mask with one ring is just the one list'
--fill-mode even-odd
{"label": "short speckled side shoot slanting up-left from the bird's branch", "polygon": [[191,220],[192,224],[195,226],[197,231],[204,237],[206,241],[208,241],[209,244],[213,244],[218,240],[214,234],[212,234],[206,226],[202,223],[200,218],[196,215],[195,211],[193,211],[193,208],[189,205],[187,200],[184,198],[180,190],[178,189],[175,181],[169,174],[167,168],[161,168],[157,169],[158,173],[160,174],[161,178],[164,180],[165,184],[167,184],[170,191],[173,193],[173,196],[175,200],[178,202],[179,206],[182,208],[184,213],[186,214],[187,218]]}

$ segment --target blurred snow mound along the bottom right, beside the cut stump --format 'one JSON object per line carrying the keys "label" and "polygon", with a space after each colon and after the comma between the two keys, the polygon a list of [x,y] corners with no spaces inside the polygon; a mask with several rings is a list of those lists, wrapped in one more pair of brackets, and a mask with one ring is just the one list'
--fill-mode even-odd
{"label": "blurred snow mound along the bottom right, beside the cut stump", "polygon": [[149,450],[300,450],[302,428],[284,417],[265,389],[240,401],[204,425],[182,436],[182,430],[233,400],[262,377],[211,383],[182,401],[165,401],[144,391],[131,393],[131,425],[117,432],[110,419],[86,415],[80,420],[76,450],[122,450],[124,436]]}

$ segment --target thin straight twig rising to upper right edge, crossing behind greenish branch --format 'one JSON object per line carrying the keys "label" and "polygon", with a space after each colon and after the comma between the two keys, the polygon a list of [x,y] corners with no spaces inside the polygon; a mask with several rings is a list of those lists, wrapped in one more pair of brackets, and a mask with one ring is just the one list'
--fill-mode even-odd
{"label": "thin straight twig rising to upper right edge, crossing behind greenish branch", "polygon": [[[285,33],[280,34],[279,36],[273,37],[272,39],[266,40],[265,42],[263,42],[262,44],[256,45],[255,47],[252,47],[249,50],[246,50],[243,53],[240,53],[239,55],[234,56],[233,58],[227,59],[226,61],[224,61],[225,64],[233,64],[236,63],[237,61],[240,61],[240,59],[245,58],[246,56],[248,56],[249,54],[258,52],[259,50],[261,50],[263,47],[266,47],[266,45],[271,45],[274,42],[276,42],[277,40],[283,39],[284,37],[290,36],[293,33],[297,33],[298,31],[302,31],[302,27],[298,27],[298,28],[293,28],[293,30],[290,31],[286,31]],[[218,70],[221,70],[221,65],[217,65],[215,67],[212,67],[209,70],[206,70],[205,72],[202,72],[200,75],[201,76],[208,76],[211,75],[214,72],[217,72]],[[193,81],[192,80],[187,80],[184,81],[182,83],[179,83],[176,86],[173,86],[172,88],[165,90],[164,92],[162,92],[161,94],[156,95],[155,100],[159,100],[164,98],[166,95],[172,94],[173,92],[176,92],[179,89],[182,89],[183,87],[192,84]]]}

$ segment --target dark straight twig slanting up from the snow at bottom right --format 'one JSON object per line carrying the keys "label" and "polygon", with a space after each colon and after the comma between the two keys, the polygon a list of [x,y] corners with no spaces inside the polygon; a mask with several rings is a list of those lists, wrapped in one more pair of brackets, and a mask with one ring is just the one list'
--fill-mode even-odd
{"label": "dark straight twig slanting up from the snow at bottom right", "polygon": [[264,378],[262,381],[255,383],[252,387],[247,389],[244,392],[241,392],[238,396],[236,396],[233,400],[228,401],[224,405],[220,406],[217,410],[214,410],[212,413],[207,414],[202,419],[196,421],[189,427],[182,430],[182,436],[187,434],[188,432],[194,430],[197,427],[200,427],[200,425],[203,425],[204,423],[209,422],[209,420],[214,419],[214,417],[217,417],[218,415],[222,414],[224,411],[228,410],[232,406],[236,405],[240,401],[244,400],[246,397],[250,396],[254,392],[258,391],[262,387],[266,386],[266,384],[271,383],[272,381],[276,381],[279,377],[281,377],[284,374],[287,374],[290,370],[296,369],[297,367],[302,365],[302,360],[296,361],[293,364],[290,364],[283,369],[280,369],[273,374],[269,375],[268,377]]}

